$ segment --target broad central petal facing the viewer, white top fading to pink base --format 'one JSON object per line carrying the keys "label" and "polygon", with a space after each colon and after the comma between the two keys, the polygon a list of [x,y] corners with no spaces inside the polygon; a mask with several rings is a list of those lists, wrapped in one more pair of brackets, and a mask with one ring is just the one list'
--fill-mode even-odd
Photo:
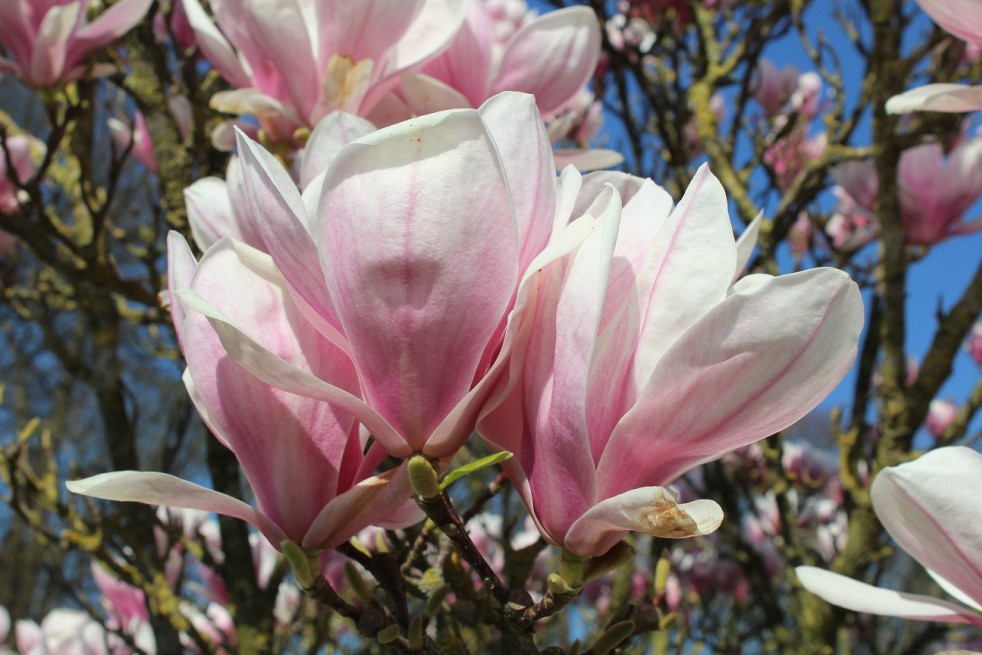
{"label": "broad central petal facing the viewer, white top fading to pink base", "polygon": [[349,144],[324,183],[315,238],[366,400],[416,450],[467,394],[515,288],[504,175],[462,110]]}

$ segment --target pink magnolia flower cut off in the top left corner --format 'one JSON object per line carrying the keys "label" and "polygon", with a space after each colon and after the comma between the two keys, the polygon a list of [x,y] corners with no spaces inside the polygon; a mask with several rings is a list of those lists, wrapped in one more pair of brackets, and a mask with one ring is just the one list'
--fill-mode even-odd
{"label": "pink magnolia flower cut off in the top left corner", "polygon": [[4,0],[0,44],[12,59],[0,57],[0,73],[18,73],[35,87],[79,79],[90,70],[86,56],[139,23],[150,1],[120,0],[87,23],[89,0]]}

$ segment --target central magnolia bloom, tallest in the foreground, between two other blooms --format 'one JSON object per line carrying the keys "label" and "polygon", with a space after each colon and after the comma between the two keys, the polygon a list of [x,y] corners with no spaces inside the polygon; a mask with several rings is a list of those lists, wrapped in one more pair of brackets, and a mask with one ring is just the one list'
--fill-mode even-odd
{"label": "central magnolia bloom, tallest in the foreground, between two other blooms", "polygon": [[238,282],[216,281],[182,300],[211,320],[246,369],[351,412],[392,455],[454,453],[510,348],[522,272],[548,268],[569,247],[550,237],[567,222],[579,175],[568,171],[557,195],[532,96],[500,94],[480,110],[430,114],[356,139],[302,195],[244,136],[239,155],[248,213],[262,217],[255,230],[324,341],[304,352],[349,357],[356,382],[298,366],[259,339],[264,314],[236,316],[220,304],[252,302],[226,300]]}

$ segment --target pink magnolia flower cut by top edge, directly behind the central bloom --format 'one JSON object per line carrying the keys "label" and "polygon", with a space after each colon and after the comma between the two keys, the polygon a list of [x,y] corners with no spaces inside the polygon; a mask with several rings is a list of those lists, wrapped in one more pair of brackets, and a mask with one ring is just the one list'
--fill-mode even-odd
{"label": "pink magnolia flower cut by top edge, directly behind the central bloom", "polygon": [[[378,109],[399,75],[449,45],[463,0],[184,0],[205,57],[233,91],[214,108],[260,117],[267,136],[289,139],[332,111]],[[219,28],[221,28],[219,30]]]}

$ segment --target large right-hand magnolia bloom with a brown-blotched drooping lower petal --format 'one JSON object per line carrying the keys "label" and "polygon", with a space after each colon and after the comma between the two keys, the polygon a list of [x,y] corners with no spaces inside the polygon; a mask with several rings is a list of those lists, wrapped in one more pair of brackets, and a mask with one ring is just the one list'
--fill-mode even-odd
{"label": "large right-hand magnolia bloom with a brown-blotched drooping lower petal", "polygon": [[754,243],[734,243],[705,166],[674,209],[625,174],[587,176],[581,198],[605,181],[613,208],[589,212],[602,220],[561,265],[532,273],[507,373],[478,423],[515,454],[503,466],[545,539],[579,556],[630,530],[715,530],[715,502],[679,505],[662,485],[814,408],[852,364],[863,324],[839,270],[734,283]]}

